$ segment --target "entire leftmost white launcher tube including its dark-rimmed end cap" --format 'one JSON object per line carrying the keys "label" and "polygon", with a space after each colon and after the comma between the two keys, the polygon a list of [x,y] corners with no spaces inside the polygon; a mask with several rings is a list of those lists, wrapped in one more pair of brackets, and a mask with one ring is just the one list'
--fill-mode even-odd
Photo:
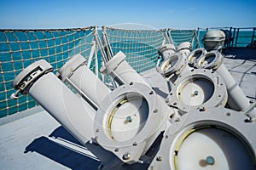
{"label": "entire leftmost white launcher tube including its dark-rimmed end cap", "polygon": [[94,137],[96,111],[73,94],[50,68],[45,60],[38,60],[15,77],[13,87],[18,89],[17,93],[31,95],[81,144],[85,144]]}

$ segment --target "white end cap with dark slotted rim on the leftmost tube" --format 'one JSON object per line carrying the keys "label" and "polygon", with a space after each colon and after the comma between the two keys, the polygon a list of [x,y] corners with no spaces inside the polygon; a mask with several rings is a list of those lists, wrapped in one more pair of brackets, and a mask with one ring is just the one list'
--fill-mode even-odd
{"label": "white end cap with dark slotted rim on the leftmost tube", "polygon": [[40,59],[21,71],[20,74],[15,77],[12,86],[15,89],[19,89],[21,94],[26,94],[32,82],[37,81],[39,77],[42,77],[49,71],[53,71],[53,67],[44,59]]}

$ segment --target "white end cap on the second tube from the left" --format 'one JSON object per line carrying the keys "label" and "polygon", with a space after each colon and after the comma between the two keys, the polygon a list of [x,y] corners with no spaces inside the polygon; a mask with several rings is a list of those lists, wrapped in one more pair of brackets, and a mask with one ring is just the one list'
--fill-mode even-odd
{"label": "white end cap on the second tube from the left", "polygon": [[81,54],[76,54],[73,58],[69,59],[58,71],[61,81],[64,82],[66,78],[71,77],[74,71],[76,71],[81,65],[85,65],[85,61],[86,60]]}

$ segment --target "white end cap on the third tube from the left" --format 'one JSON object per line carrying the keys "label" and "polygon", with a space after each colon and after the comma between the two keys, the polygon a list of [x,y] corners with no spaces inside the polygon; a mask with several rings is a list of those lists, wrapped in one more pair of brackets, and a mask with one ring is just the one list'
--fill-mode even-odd
{"label": "white end cap on the third tube from the left", "polygon": [[100,69],[100,71],[107,75],[109,71],[114,71],[118,65],[126,59],[126,56],[123,52],[119,51],[119,53],[115,54],[112,59],[108,61],[108,63]]}

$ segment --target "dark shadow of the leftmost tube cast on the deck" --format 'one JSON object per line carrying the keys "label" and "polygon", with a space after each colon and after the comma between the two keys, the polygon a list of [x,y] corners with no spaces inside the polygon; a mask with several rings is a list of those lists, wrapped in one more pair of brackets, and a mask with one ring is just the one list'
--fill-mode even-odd
{"label": "dark shadow of the leftmost tube cast on the deck", "polygon": [[[49,137],[66,139],[74,144],[79,144],[79,142],[63,127],[56,128]],[[92,159],[89,156],[84,156],[77,151],[68,149],[67,147],[63,147],[63,145],[57,144],[45,136],[34,139],[31,144],[27,145],[24,153],[26,154],[28,152],[37,152],[52,161],[74,170],[97,169],[101,164],[100,161]]]}

